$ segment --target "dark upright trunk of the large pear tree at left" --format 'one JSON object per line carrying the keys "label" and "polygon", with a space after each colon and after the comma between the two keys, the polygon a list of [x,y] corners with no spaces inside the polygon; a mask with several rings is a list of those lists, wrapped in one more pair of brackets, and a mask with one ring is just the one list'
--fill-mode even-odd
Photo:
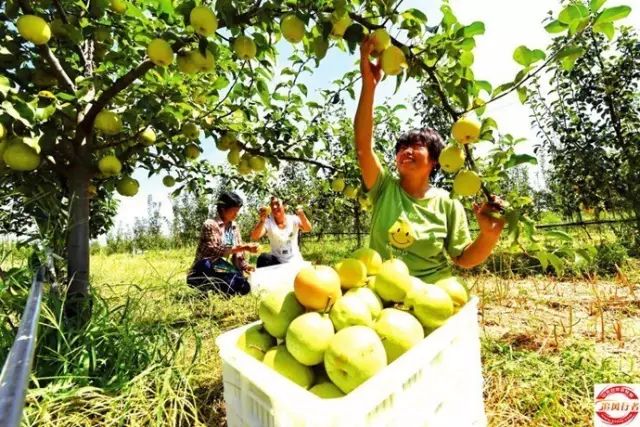
{"label": "dark upright trunk of the large pear tree at left", "polygon": [[67,236],[67,273],[69,296],[89,296],[89,185],[87,166],[77,165],[69,174],[70,218]]}

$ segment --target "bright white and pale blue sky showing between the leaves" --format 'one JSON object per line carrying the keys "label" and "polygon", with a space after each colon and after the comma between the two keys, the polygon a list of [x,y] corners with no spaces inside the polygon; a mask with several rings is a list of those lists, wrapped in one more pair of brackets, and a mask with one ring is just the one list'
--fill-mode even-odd
{"label": "bright white and pale blue sky showing between the leaves", "polygon": [[[605,6],[633,3],[635,2],[629,0],[610,0]],[[520,66],[512,59],[517,46],[524,44],[529,48],[544,49],[548,45],[550,37],[541,21],[549,10],[557,13],[560,8],[558,0],[450,0],[449,4],[463,24],[473,21],[485,23],[485,34],[476,37],[473,67],[477,79],[488,80],[494,87],[512,80],[519,71]],[[400,10],[418,8],[428,16],[431,23],[436,23],[441,17],[440,5],[440,0],[404,0]],[[640,28],[640,11],[634,10],[622,22]],[[277,48],[280,54],[278,65],[284,67],[292,48],[285,41],[280,42]],[[350,55],[339,49],[331,49],[315,73],[305,75],[301,81],[308,86],[309,93],[312,94],[329,87],[333,80],[357,67],[357,59],[357,54]],[[410,98],[416,93],[417,84],[415,81],[409,81],[395,95],[394,89],[395,79],[383,81],[376,95],[377,102],[390,97],[393,102],[410,106]],[[356,87],[356,95],[358,91],[359,87]],[[355,105],[355,101],[349,101],[347,109],[355,112]],[[410,112],[409,110],[407,114]],[[529,124],[528,110],[520,104],[515,93],[491,104],[486,114],[496,119],[502,133],[511,133],[527,139],[527,142],[521,145],[520,151],[530,152],[537,143],[535,132]],[[201,145],[204,148],[204,158],[215,164],[226,161],[226,153],[217,151],[212,141],[204,140]],[[162,176],[147,178],[147,172],[140,170],[134,177],[140,181],[140,192],[135,197],[120,198],[116,226],[128,228],[136,217],[144,216],[148,195],[152,195],[154,201],[159,201],[163,215],[171,218],[169,192],[162,185]]]}

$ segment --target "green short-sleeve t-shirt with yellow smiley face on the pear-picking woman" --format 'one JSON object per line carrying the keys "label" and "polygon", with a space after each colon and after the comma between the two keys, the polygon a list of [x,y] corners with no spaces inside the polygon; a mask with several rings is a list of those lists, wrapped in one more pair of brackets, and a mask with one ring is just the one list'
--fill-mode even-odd
{"label": "green short-sleeve t-shirt with yellow smiley face on the pear-picking woman", "polygon": [[423,199],[411,197],[387,171],[378,175],[369,197],[372,249],[383,259],[400,258],[411,275],[427,283],[451,276],[445,252],[456,258],[471,243],[467,215],[458,200],[435,187]]}

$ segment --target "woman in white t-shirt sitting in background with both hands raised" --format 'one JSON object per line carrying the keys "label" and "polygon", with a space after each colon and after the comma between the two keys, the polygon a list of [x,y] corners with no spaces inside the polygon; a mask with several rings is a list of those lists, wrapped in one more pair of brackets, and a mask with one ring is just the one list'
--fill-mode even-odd
{"label": "woman in white t-shirt sitting in background with both hands raised", "polygon": [[298,230],[311,231],[311,223],[302,207],[296,208],[295,215],[288,215],[285,209],[285,204],[276,196],[271,196],[268,208],[260,208],[258,223],[251,231],[251,240],[260,240],[266,234],[271,245],[271,253],[260,254],[257,261],[258,268],[302,261],[302,254],[298,247]]}

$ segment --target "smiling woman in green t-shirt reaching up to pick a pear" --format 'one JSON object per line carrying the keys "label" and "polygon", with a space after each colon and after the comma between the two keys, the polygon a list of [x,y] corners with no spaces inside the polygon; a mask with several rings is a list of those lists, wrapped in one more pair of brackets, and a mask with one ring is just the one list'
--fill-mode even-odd
{"label": "smiling woman in green t-shirt reaching up to pick a pear", "polygon": [[382,167],[372,144],[373,99],[382,77],[380,65],[369,60],[372,48],[371,39],[360,47],[362,91],[354,119],[358,163],[374,205],[369,245],[384,259],[400,258],[411,275],[435,283],[452,275],[445,252],[463,268],[487,259],[504,227],[504,219],[491,215],[502,201],[492,196],[490,203],[474,204],[480,233],[472,241],[462,204],[429,182],[444,146],[434,129],[412,130],[398,139],[399,178]]}

